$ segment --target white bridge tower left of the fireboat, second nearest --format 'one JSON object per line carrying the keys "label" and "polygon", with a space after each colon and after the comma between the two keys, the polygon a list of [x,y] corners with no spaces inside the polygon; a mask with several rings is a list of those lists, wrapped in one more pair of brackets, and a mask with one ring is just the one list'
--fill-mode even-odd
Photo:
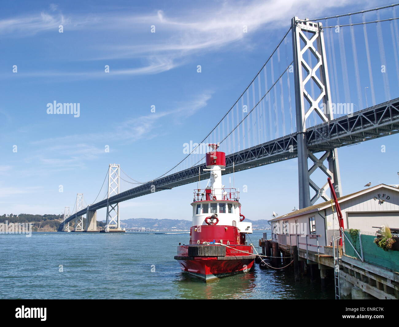
{"label": "white bridge tower left of the fireboat, second nearest", "polygon": [[120,228],[119,204],[110,203],[109,198],[119,194],[119,164],[109,164],[108,170],[108,197],[107,197],[107,222],[105,232],[124,232]]}

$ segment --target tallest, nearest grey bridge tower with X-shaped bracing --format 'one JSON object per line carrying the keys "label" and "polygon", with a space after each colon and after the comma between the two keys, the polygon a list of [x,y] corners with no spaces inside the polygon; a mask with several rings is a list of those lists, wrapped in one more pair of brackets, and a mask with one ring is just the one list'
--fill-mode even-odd
{"label": "tallest, nearest grey bridge tower with X-shaped bracing", "polygon": [[[291,20],[291,30],[294,54],[299,208],[302,209],[313,205],[320,197],[326,201],[329,200],[326,196],[326,190],[329,187],[327,178],[326,183],[322,187],[319,187],[310,178],[310,175],[318,168],[326,174],[326,177],[331,178],[338,197],[342,194],[342,188],[337,149],[325,149],[324,154],[320,158],[317,158],[308,149],[306,140],[306,121],[311,113],[316,112],[323,123],[328,124],[333,119],[322,24],[294,17]],[[310,35],[310,38],[308,38],[308,35]],[[311,56],[310,61],[308,57],[309,51]],[[320,91],[315,96],[315,99],[312,98],[310,92],[312,82],[316,85],[316,90]],[[323,103],[323,109],[319,107],[320,102]],[[310,169],[308,169],[308,158],[313,161]],[[326,159],[328,161],[328,168],[324,165]],[[310,198],[309,187],[316,192],[312,198]]]}

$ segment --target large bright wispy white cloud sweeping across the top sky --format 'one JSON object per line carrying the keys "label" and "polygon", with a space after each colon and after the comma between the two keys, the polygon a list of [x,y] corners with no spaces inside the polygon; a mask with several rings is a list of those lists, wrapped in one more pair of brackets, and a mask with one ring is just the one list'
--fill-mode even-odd
{"label": "large bright wispy white cloud sweeping across the top sky", "polygon": [[[266,24],[268,31],[288,27],[294,15],[318,16],[326,9],[356,2],[364,5],[361,0],[318,2],[317,5],[307,0],[253,0],[211,3],[201,10],[181,8],[179,12],[158,10],[140,14],[113,11],[90,15],[64,15],[57,6],[50,5],[51,13],[43,11],[0,20],[0,33],[26,37],[56,31],[59,25],[63,25],[65,31],[79,31],[79,34],[92,36],[85,38],[90,42],[82,45],[80,60],[138,58],[144,63],[139,67],[111,68],[109,74],[103,71],[31,71],[21,73],[21,76],[122,77],[168,71],[186,63],[192,55],[215,51],[227,45],[250,47],[253,34]],[[156,33],[150,33],[152,25]],[[248,33],[244,33],[244,26],[247,26]],[[118,38],[114,42],[115,35]]]}

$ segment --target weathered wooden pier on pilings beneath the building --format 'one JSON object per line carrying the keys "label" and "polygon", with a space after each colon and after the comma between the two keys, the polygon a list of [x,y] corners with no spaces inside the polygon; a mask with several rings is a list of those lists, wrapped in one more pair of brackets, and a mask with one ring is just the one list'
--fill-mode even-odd
{"label": "weathered wooden pier on pilings beneath the building", "polygon": [[[296,236],[296,235],[290,235]],[[266,235],[264,235],[265,238]],[[272,267],[284,268],[294,273],[295,281],[310,275],[311,279],[320,274],[321,286],[328,280],[334,282],[334,269],[338,270],[339,285],[336,285],[339,299],[399,299],[399,273],[362,262],[343,253],[342,246],[335,247],[338,266],[334,267],[334,248],[323,246],[324,253],[292,244],[281,244],[262,238],[259,246],[263,254],[272,256]],[[290,257],[288,259],[288,257]],[[281,258],[281,259],[280,259]],[[287,260],[288,259],[288,260]]]}

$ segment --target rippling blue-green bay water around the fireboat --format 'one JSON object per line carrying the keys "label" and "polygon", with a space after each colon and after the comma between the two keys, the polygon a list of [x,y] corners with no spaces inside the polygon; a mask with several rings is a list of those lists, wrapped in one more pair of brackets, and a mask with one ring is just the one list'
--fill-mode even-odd
{"label": "rippling blue-green bay water around the fireboat", "polygon": [[[261,231],[251,235],[254,244]],[[173,257],[187,233],[0,235],[0,298],[12,299],[332,299],[333,287],[260,270],[204,283]],[[63,272],[59,272],[62,265]],[[154,266],[153,266],[154,265]],[[154,270],[155,272],[152,272]]]}

